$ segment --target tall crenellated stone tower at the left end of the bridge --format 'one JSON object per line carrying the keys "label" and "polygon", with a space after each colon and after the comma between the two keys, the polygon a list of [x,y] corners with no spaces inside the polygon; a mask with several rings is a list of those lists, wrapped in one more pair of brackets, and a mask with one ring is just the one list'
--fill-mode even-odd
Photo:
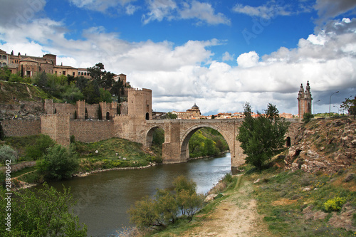
{"label": "tall crenellated stone tower at the left end of the bridge", "polygon": [[129,88],[127,96],[128,115],[152,120],[152,90]]}

